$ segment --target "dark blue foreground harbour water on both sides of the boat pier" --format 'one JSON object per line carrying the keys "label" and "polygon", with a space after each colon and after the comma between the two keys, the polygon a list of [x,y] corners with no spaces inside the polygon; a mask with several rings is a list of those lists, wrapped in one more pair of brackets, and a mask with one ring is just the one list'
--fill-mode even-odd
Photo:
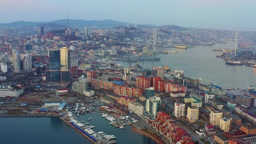
{"label": "dark blue foreground harbour water on both sides of the boat pier", "polygon": [[[131,126],[121,130],[109,124],[99,112],[81,115],[79,119],[94,125],[94,131],[115,135],[118,144],[156,144],[152,139],[131,131]],[[1,144],[92,144],[59,118],[0,118]]]}

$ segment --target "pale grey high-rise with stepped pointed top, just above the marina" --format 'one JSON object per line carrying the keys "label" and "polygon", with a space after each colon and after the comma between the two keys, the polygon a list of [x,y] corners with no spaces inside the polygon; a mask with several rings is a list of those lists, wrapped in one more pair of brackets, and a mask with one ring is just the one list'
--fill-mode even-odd
{"label": "pale grey high-rise with stepped pointed top, just above the marina", "polygon": [[72,89],[80,94],[87,90],[87,81],[84,75],[80,76],[77,81],[73,82]]}

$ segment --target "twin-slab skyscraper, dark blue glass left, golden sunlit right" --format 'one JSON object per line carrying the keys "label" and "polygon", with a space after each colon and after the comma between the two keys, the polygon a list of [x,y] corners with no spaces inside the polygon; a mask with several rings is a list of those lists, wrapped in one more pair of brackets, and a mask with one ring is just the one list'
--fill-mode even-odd
{"label": "twin-slab skyscraper, dark blue glass left, golden sunlit right", "polygon": [[49,49],[49,81],[70,82],[70,51],[67,47]]}

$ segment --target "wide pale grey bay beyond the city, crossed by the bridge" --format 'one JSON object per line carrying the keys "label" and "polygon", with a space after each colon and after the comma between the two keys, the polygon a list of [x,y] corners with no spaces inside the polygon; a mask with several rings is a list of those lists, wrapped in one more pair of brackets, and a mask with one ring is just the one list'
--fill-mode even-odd
{"label": "wide pale grey bay beyond the city, crossed by the bridge", "polygon": [[[177,53],[159,54],[160,61],[139,61],[143,68],[155,66],[169,66],[170,69],[183,69],[184,75],[201,79],[202,83],[209,81],[221,85],[223,88],[246,88],[256,84],[256,69],[245,65],[226,65],[225,61],[216,58],[221,55],[220,51],[213,49],[233,49],[235,43],[228,41],[225,44],[213,46],[195,46],[187,49],[165,48],[163,50],[176,50]],[[130,62],[115,61],[123,66],[129,66]],[[132,62],[135,65],[136,62]]]}

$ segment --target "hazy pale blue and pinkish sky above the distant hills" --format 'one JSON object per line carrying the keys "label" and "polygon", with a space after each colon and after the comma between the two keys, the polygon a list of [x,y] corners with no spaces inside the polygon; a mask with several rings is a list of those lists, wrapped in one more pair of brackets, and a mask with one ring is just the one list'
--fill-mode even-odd
{"label": "hazy pale blue and pinkish sky above the distant hills", "polygon": [[256,30],[256,0],[0,0],[0,23],[112,19],[137,24]]}

